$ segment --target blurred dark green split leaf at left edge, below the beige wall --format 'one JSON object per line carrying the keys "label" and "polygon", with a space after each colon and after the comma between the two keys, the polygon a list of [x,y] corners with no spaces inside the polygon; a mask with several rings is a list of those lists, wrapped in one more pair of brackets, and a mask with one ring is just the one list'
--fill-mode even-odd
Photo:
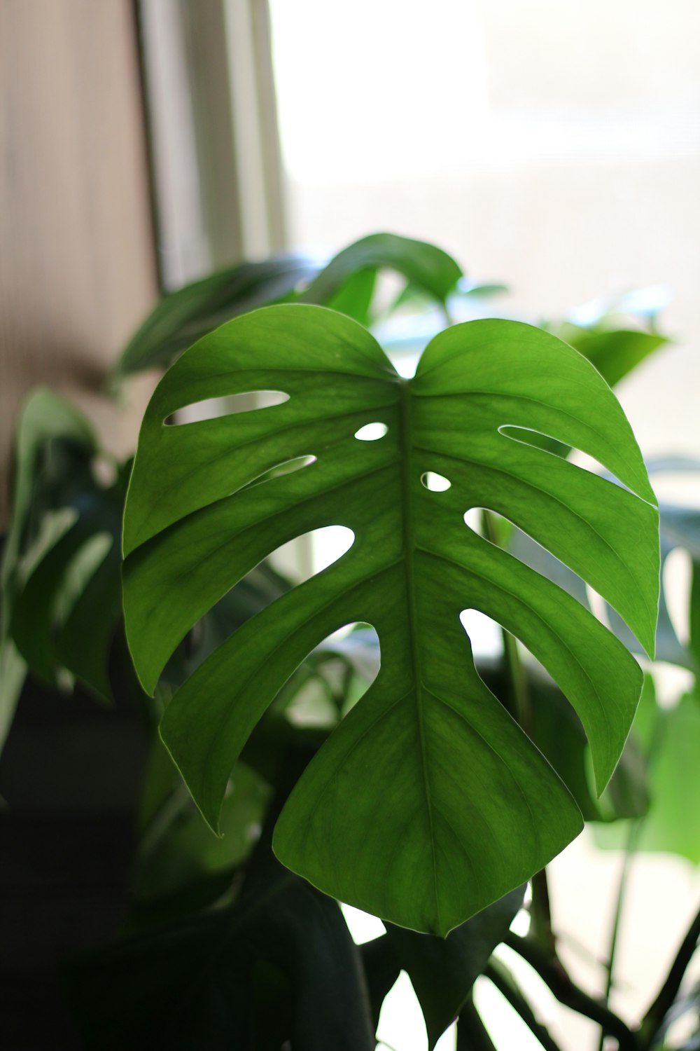
{"label": "blurred dark green split leaf at left edge, below the beige wall", "polygon": [[10,519],[2,558],[0,744],[26,674],[78,678],[109,696],[107,660],[120,617],[126,471],[103,486],[85,418],[39,388],[15,436]]}

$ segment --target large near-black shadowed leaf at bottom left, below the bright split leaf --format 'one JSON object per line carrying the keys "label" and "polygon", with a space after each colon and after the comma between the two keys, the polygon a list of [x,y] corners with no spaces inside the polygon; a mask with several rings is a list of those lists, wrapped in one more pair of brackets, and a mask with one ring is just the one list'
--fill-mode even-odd
{"label": "large near-black shadowed leaf at bottom left, below the bright split leaf", "polygon": [[96,1051],[373,1051],[360,956],[336,902],[273,862],[230,908],[128,939],[66,976]]}

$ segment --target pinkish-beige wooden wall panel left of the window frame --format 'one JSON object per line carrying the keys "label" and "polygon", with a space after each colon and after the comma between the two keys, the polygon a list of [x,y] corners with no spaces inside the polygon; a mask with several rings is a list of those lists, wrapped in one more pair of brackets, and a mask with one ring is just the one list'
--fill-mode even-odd
{"label": "pinkish-beige wooden wall panel left of the window frame", "polygon": [[131,0],[0,0],[0,522],[21,399],[48,384],[107,444],[130,409],[101,395],[156,296]]}

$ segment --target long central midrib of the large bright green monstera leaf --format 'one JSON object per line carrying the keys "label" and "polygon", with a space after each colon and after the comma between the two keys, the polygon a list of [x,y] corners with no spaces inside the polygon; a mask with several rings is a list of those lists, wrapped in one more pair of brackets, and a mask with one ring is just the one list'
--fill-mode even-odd
{"label": "long central midrib of the large bright green monstera leaf", "polygon": [[416,539],[413,534],[413,446],[412,446],[412,415],[411,415],[411,385],[410,380],[402,380],[399,387],[400,407],[400,440],[403,455],[401,457],[401,496],[404,508],[403,515],[403,541],[404,558],[403,564],[406,577],[406,614],[408,618],[408,644],[410,646],[410,661],[416,683],[416,716],[418,721],[418,739],[421,746],[421,768],[423,772],[423,786],[425,789],[425,803],[428,817],[428,827],[430,830],[430,850],[432,857],[432,884],[436,901],[436,915],[438,918],[438,928],[442,929],[440,915],[440,895],[438,892],[438,866],[436,859],[436,837],[432,825],[432,801],[430,794],[430,782],[428,779],[428,766],[425,755],[425,736],[423,731],[423,680],[421,676],[421,663],[418,650],[419,621],[416,611],[416,584],[413,569],[413,552],[416,550]]}

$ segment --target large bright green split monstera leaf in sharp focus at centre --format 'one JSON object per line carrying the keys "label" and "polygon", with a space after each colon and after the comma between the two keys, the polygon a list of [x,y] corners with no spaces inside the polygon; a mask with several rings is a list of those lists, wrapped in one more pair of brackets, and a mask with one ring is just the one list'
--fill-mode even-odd
{"label": "large bright green split monstera leaf in sharp focus at centre", "polygon": [[[287,400],[168,426],[185,406],[254,391]],[[542,434],[621,485],[536,448]],[[657,512],[631,429],[582,356],[515,322],[442,332],[412,379],[324,308],[269,307],[229,323],[153,395],[124,532],[127,633],[152,691],[183,636],[271,551],[320,527],[353,531],[345,555],[194,672],[162,735],[215,828],[231,767],[294,668],[344,624],[373,624],[377,679],[297,782],[274,847],[326,893],[440,934],[581,827],[561,781],[479,677],[461,613],[493,618],[548,668],[586,729],[598,790],[641,686],[634,659],[580,603],[466,524],[473,508],[547,547],[653,648]]]}

